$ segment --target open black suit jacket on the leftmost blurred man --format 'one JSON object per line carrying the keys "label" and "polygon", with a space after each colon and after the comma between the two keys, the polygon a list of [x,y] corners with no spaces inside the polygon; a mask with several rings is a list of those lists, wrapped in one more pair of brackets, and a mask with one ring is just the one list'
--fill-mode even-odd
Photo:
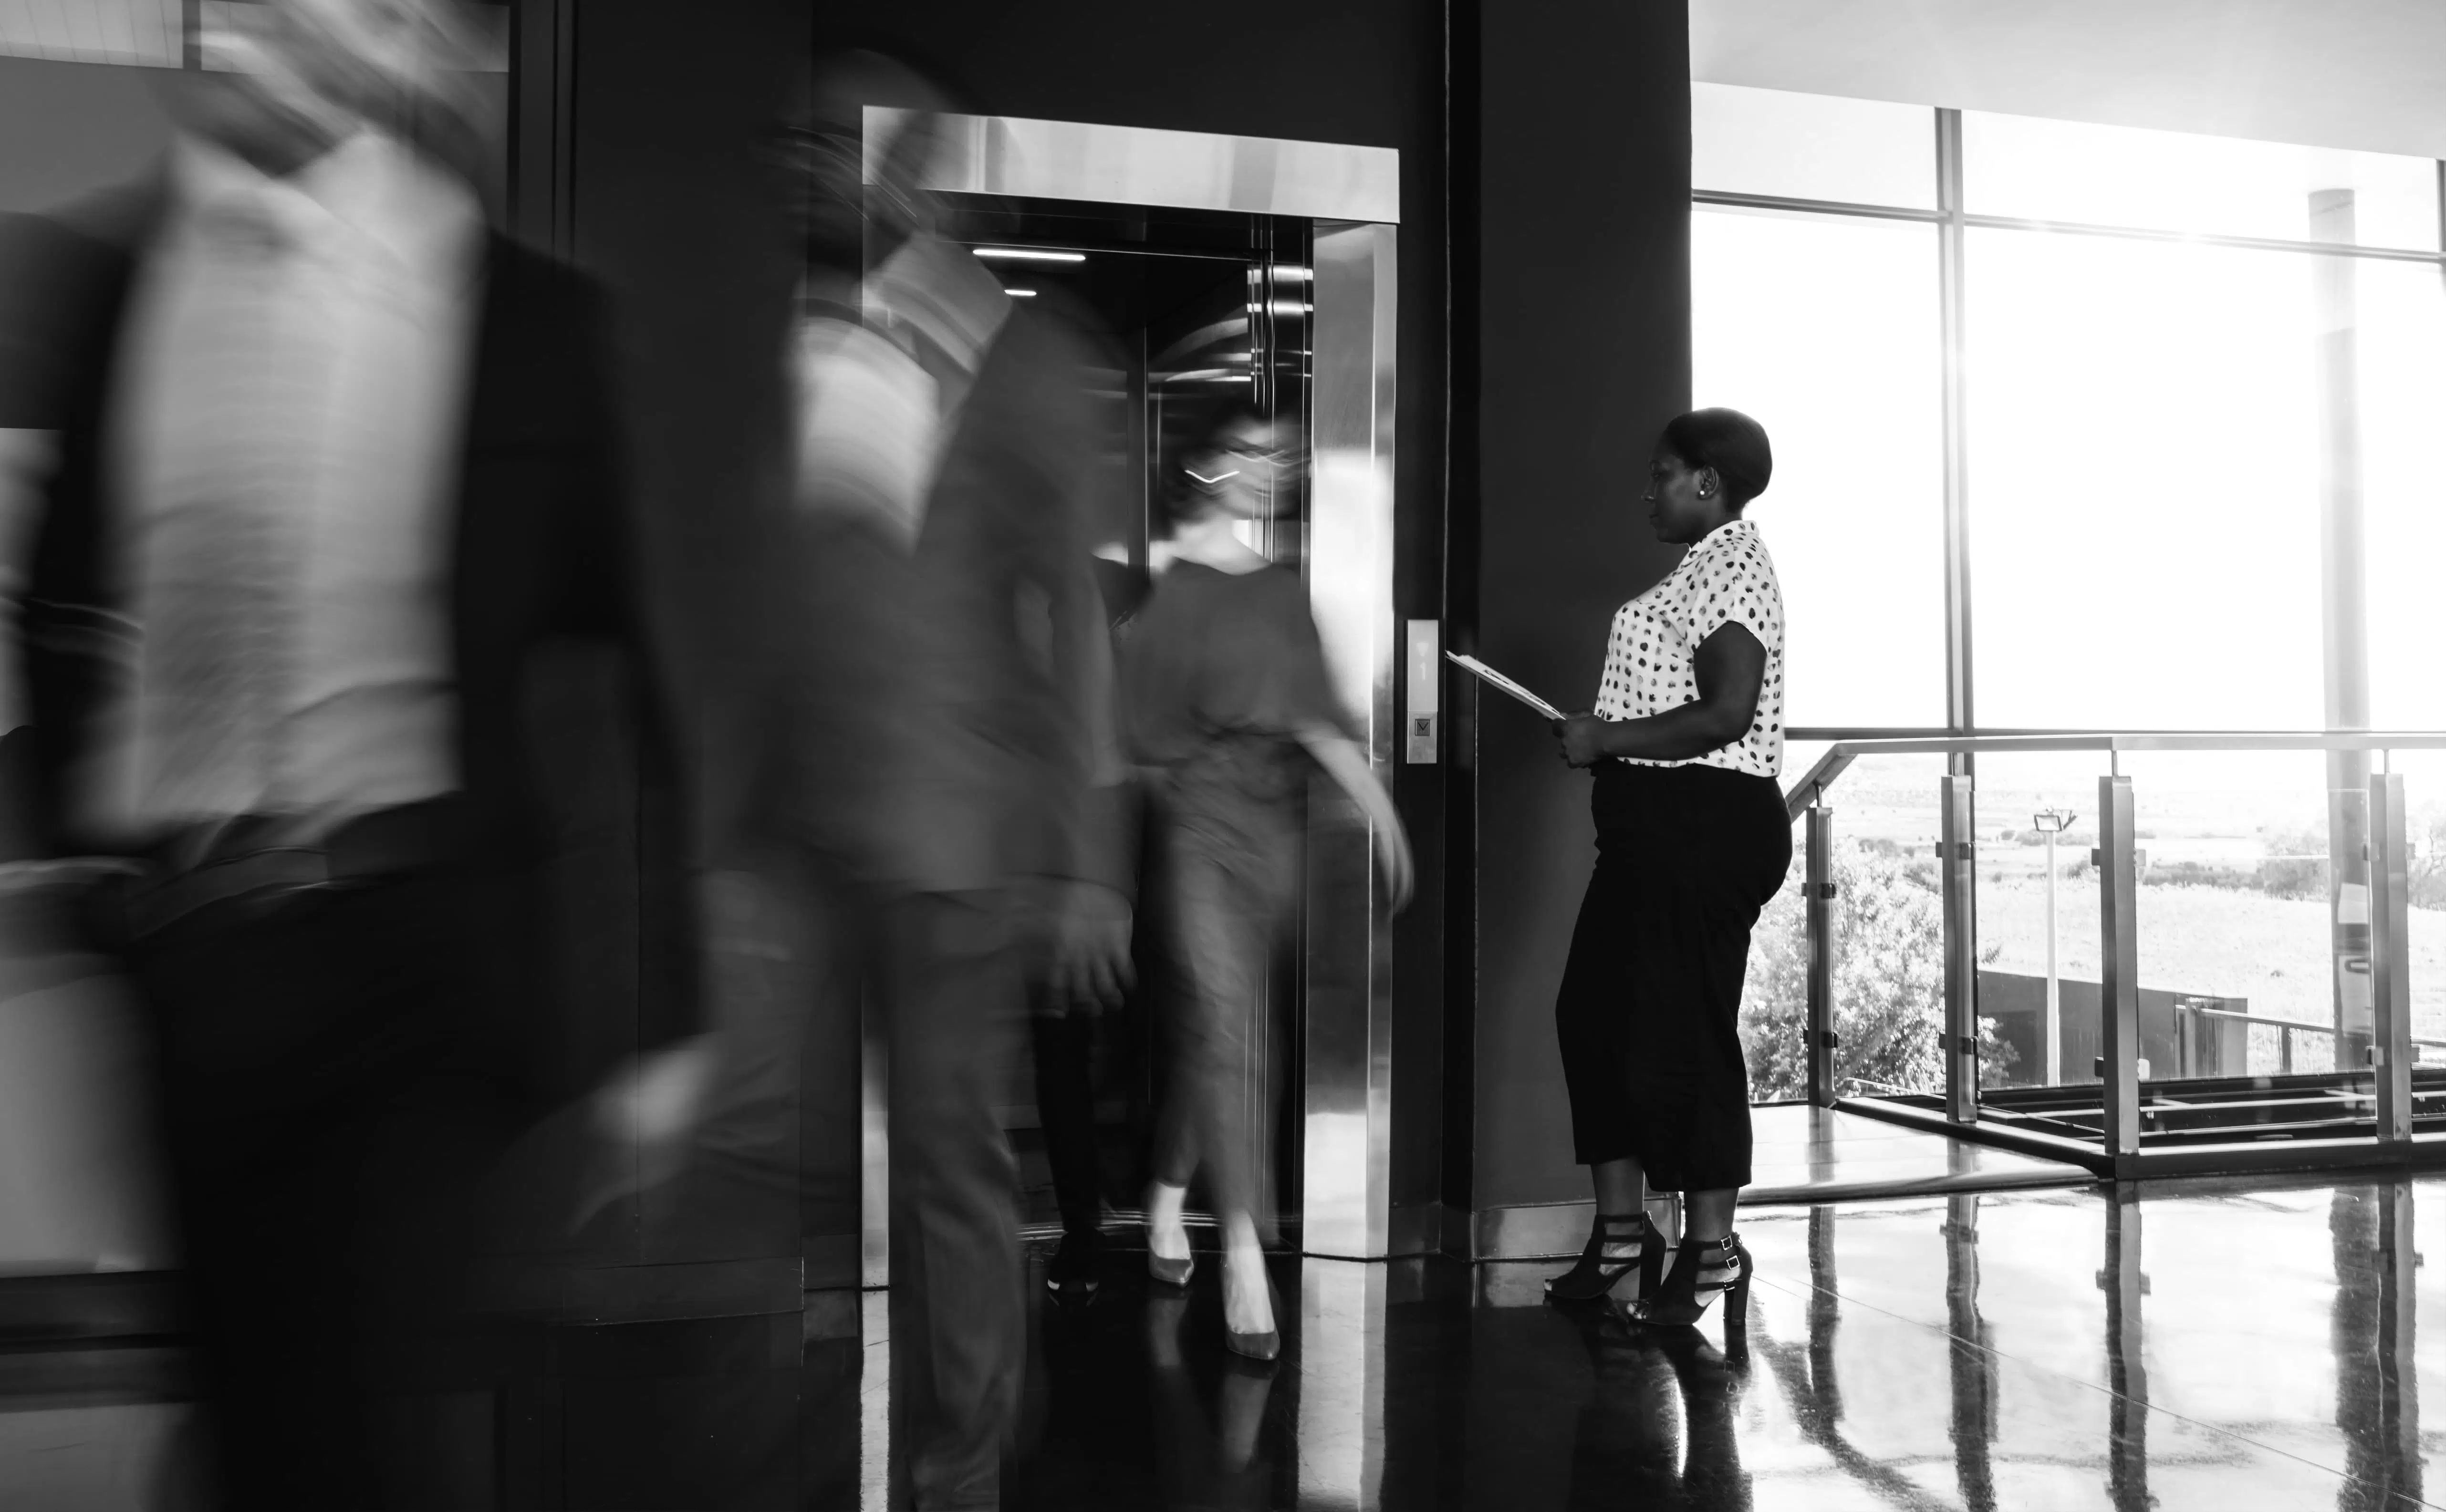
{"label": "open black suit jacket on the leftmost blurred man", "polygon": [[[147,183],[61,218],[0,218],[0,428],[56,433],[39,480],[17,634],[22,719],[7,739],[20,854],[78,849],[61,825],[68,780],[95,712],[130,675],[135,624],[113,560],[115,360],[130,289],[166,210]],[[536,665],[558,643],[589,643],[626,668],[636,729],[638,1045],[697,1023],[695,908],[682,785],[665,683],[648,648],[634,519],[602,294],[577,272],[489,235],[465,389],[450,546],[450,648],[457,680],[457,776],[479,886],[497,888],[497,937],[479,942],[501,974],[494,1069],[531,1091],[567,1094],[587,1072],[563,1069],[567,1035],[550,1006],[545,895],[567,820],[536,719]],[[567,744],[567,741],[563,741]],[[582,754],[585,756],[585,754]],[[88,842],[91,844],[91,842]],[[599,1030],[597,1030],[599,1035]],[[626,1047],[626,1045],[619,1045]],[[602,1052],[594,1054],[602,1059]],[[589,1067],[599,1069],[599,1067]]]}

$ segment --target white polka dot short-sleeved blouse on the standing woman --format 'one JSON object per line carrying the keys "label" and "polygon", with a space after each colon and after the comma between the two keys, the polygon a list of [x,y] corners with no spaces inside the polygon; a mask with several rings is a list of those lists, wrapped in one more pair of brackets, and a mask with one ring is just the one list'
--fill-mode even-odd
{"label": "white polka dot short-sleeved blouse on the standing woman", "polygon": [[1698,702],[1698,646],[1739,621],[1766,646],[1766,680],[1749,734],[1690,761],[1624,758],[1636,766],[1724,766],[1783,776],[1783,587],[1759,526],[1737,519],[1707,531],[1678,568],[1614,614],[1605,646],[1600,719],[1646,719]]}

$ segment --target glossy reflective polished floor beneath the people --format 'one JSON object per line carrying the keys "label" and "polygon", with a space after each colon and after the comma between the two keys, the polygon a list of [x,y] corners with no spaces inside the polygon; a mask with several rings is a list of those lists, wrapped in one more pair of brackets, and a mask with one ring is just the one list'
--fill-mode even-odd
{"label": "glossy reflective polished floor beneath the people", "polygon": [[[2446,1245],[2446,1177],[1744,1209],[1742,1231],[1746,1348],[1724,1348],[1722,1319],[1644,1336],[1546,1306],[1553,1262],[1284,1258],[1296,1321],[1272,1370],[1223,1353],[1211,1262],[1167,1297],[1115,1250],[1088,1306],[1032,1289],[1005,1505],[2172,1512],[2446,1492],[2446,1468],[2429,1480],[2446,1431],[2419,1417],[2446,1402],[2446,1272],[2422,1265]],[[482,1419],[499,1468],[462,1505],[550,1488],[567,1507],[881,1507],[881,1297],[812,1294],[805,1316],[558,1331],[538,1365],[558,1385]],[[27,1338],[0,1368],[0,1505],[166,1505],[174,1351]]]}

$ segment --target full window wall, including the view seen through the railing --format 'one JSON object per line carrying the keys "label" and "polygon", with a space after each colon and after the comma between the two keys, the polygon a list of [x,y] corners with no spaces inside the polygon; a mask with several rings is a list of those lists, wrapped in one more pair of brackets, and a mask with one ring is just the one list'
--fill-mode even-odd
{"label": "full window wall, including the view seen through the railing", "polygon": [[[1698,86],[1693,188],[1695,396],[1776,443],[1788,785],[1896,729],[2343,724],[2355,639],[2368,724],[2446,729],[2441,164]],[[1832,795],[1837,1094],[1942,1086],[1942,761]],[[2331,1067],[2326,763],[2126,761],[2145,1074]],[[2094,1077],[2099,766],[1979,758],[1984,1084]],[[2446,1045],[2446,758],[2397,768],[2414,1032]],[[1759,1099],[1805,1079],[1798,881],[1744,993]]]}

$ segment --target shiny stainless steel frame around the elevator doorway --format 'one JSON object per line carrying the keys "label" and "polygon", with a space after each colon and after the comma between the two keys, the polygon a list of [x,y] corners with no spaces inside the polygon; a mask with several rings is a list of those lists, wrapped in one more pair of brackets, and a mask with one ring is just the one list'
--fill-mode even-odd
{"label": "shiny stainless steel frame around the elevator doorway", "polygon": [[[900,110],[866,108],[866,176]],[[1394,311],[1402,154],[1392,147],[944,115],[927,188],[1032,201],[1294,215],[1314,223],[1309,604],[1370,766],[1392,783]],[[1311,793],[1301,988],[1301,1248],[1392,1253],[1392,920],[1375,834],[1331,783]],[[868,1081],[878,1059],[868,1057]],[[881,1089],[868,1086],[868,1108]],[[885,1284],[885,1140],[866,1138],[866,1284]]]}

